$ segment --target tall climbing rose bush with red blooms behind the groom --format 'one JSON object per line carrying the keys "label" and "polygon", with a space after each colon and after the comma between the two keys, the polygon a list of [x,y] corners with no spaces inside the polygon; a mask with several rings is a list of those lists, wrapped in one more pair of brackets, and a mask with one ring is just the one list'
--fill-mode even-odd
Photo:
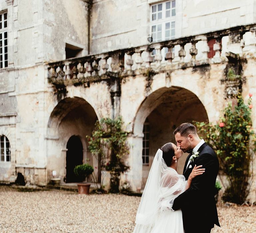
{"label": "tall climbing rose bush with red blooms behind the groom", "polygon": [[256,149],[256,135],[252,130],[251,97],[248,104],[241,96],[237,105],[224,109],[217,124],[196,122],[199,135],[209,143],[220,160],[220,170],[227,175],[229,186],[223,200],[242,204],[248,196],[251,182],[250,164]]}

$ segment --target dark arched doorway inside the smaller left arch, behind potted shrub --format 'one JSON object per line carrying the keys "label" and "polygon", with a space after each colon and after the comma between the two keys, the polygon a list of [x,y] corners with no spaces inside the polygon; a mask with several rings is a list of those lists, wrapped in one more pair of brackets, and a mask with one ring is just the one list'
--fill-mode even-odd
{"label": "dark arched doorway inside the smaller left arch, behind potted shrub", "polygon": [[67,143],[66,183],[82,182],[74,173],[76,165],[83,164],[83,145],[78,136],[71,136]]}

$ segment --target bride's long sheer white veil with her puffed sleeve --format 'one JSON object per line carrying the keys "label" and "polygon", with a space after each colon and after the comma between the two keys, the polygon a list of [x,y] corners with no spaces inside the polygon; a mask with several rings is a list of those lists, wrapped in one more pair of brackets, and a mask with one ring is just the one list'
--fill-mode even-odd
{"label": "bride's long sheer white veil with her puffed sleeve", "polygon": [[159,212],[173,211],[174,199],[186,189],[185,177],[167,167],[163,151],[158,149],[137,210],[133,233],[151,232]]}

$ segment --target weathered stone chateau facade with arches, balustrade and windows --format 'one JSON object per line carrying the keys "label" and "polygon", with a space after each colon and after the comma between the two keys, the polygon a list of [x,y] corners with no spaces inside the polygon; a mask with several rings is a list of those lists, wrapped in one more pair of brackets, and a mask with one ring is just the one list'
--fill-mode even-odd
{"label": "weathered stone chateau facade with arches, balustrade and windows", "polygon": [[[122,116],[130,170],[121,180],[143,190],[180,123],[216,122],[239,87],[256,106],[255,9],[250,0],[0,0],[0,181],[21,172],[46,185],[54,171],[76,182],[75,165],[97,167],[86,139],[95,121]],[[242,80],[228,80],[229,69]]]}

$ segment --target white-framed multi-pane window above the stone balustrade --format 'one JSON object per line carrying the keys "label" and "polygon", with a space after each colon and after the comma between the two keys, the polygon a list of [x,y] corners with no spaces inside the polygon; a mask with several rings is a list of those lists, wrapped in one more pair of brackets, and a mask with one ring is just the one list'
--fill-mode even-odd
{"label": "white-framed multi-pane window above the stone balustrade", "polygon": [[151,5],[150,27],[153,42],[175,37],[175,0]]}

